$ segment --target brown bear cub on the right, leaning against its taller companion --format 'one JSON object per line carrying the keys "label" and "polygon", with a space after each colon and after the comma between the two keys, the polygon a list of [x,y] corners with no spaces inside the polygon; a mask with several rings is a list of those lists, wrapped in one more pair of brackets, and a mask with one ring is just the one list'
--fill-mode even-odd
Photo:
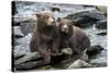
{"label": "brown bear cub on the right, leaning against its taller companion", "polygon": [[58,19],[61,34],[61,49],[70,48],[72,54],[79,54],[80,59],[87,60],[86,51],[90,46],[89,37],[81,28],[74,26],[67,19]]}

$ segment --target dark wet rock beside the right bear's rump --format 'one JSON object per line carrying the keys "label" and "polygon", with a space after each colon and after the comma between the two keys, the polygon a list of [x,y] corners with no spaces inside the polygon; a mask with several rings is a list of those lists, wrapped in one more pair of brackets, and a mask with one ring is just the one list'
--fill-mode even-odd
{"label": "dark wet rock beside the right bear's rump", "polygon": [[88,56],[95,56],[100,53],[103,50],[103,48],[100,45],[96,45],[96,46],[91,46],[88,50],[87,50],[87,54]]}

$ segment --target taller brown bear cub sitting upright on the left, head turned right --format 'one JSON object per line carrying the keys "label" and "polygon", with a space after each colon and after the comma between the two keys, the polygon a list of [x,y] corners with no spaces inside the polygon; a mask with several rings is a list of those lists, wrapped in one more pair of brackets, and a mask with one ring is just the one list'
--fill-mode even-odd
{"label": "taller brown bear cub sitting upright on the left, head turned right", "polygon": [[40,52],[44,62],[51,62],[52,52],[58,52],[59,35],[53,13],[42,11],[36,13],[36,28],[30,42],[32,52]]}

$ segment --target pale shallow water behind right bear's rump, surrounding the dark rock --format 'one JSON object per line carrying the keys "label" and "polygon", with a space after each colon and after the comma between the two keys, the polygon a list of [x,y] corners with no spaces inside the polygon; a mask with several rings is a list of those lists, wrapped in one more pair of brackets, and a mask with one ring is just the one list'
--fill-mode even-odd
{"label": "pale shallow water behind right bear's rump, surrounding the dark rock", "polygon": [[97,29],[95,25],[84,31],[88,34],[91,46],[100,45],[102,46],[102,48],[105,48],[105,50],[102,50],[101,53],[92,57],[89,60],[89,62],[92,64],[97,64],[98,66],[106,66],[107,65],[107,35],[105,36],[97,35],[97,33],[100,32],[101,29]]}

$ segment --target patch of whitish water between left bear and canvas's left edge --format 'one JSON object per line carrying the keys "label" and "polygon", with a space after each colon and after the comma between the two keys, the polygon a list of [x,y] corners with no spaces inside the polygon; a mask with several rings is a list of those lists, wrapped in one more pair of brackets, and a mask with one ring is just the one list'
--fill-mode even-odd
{"label": "patch of whitish water between left bear and canvas's left edge", "polygon": [[28,34],[25,37],[16,39],[15,42],[18,45],[13,47],[14,48],[14,53],[30,52],[31,37],[32,37],[32,34]]}

